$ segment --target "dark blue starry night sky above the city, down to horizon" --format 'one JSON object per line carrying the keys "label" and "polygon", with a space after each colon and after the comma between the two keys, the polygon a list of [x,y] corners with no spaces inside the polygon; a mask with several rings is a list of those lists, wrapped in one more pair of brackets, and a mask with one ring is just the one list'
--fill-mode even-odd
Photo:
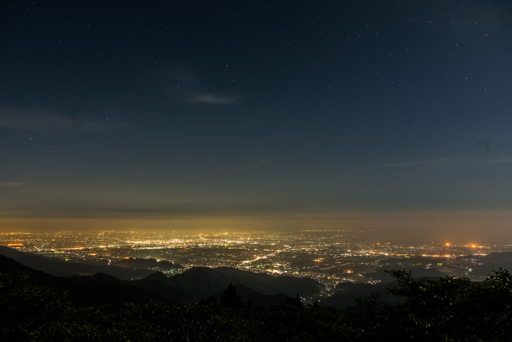
{"label": "dark blue starry night sky above the city, down to horizon", "polygon": [[508,0],[3,2],[0,230],[512,237],[511,21]]}

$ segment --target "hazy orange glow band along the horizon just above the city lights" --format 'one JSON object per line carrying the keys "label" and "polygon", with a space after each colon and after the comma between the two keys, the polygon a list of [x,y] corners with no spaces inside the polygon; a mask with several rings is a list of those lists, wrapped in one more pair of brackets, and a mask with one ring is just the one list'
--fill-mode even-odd
{"label": "hazy orange glow band along the horizon just above the city lights", "polygon": [[[445,239],[508,239],[512,238],[512,212],[505,210],[481,210],[472,212],[395,212],[381,213],[378,211],[356,211],[355,214],[325,213],[299,214],[275,213],[273,215],[199,215],[174,217],[134,217],[126,214],[124,217],[112,214],[109,217],[89,217],[94,213],[84,213],[83,217],[0,217],[2,232],[58,232],[58,231],[304,231],[317,228],[322,231],[370,231],[367,233],[375,239],[400,238],[403,240],[425,239],[434,241],[442,234]],[[435,220],[433,227],[430,220]],[[414,230],[411,227],[416,227]],[[486,227],[484,233],[481,227]],[[375,230],[377,229],[377,230]],[[470,232],[470,233],[468,233]],[[499,233],[498,233],[499,232]],[[378,243],[383,246],[385,243]],[[451,243],[443,243],[452,246]],[[375,245],[374,245],[375,246]],[[476,248],[476,244],[466,245]],[[474,246],[474,247],[473,247]]]}

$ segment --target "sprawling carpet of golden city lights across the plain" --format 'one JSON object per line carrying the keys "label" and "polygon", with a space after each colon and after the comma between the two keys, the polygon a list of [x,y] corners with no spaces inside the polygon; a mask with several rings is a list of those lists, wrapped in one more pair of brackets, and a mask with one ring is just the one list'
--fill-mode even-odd
{"label": "sprawling carpet of golden city lights across the plain", "polygon": [[[234,267],[275,276],[310,277],[325,284],[330,284],[332,279],[375,284],[380,281],[378,277],[374,279],[376,270],[402,268],[403,265],[462,276],[475,266],[475,261],[460,259],[464,255],[482,254],[480,249],[484,248],[487,253],[510,248],[474,243],[394,245],[320,234],[304,236],[300,232],[265,231],[9,233],[0,234],[0,244],[69,261],[87,261],[92,265],[116,265],[117,261],[130,258],[153,258],[182,265],[172,270],[161,269],[169,275],[197,266]],[[426,262],[406,261],[414,257],[423,257]],[[439,261],[432,263],[433,258]]]}

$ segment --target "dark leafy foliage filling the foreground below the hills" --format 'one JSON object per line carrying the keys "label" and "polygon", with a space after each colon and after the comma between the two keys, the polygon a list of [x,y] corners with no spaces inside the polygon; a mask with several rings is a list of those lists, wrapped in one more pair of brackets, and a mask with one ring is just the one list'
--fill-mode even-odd
{"label": "dark leafy foliage filling the foreground below the hills", "polygon": [[[508,341],[512,276],[499,270],[483,284],[467,278],[414,279],[392,271],[405,297],[396,306],[379,294],[360,309],[282,305],[246,308],[203,304],[127,304],[77,309],[63,291],[26,285],[27,275],[0,274],[0,341]],[[232,289],[231,289],[232,291]],[[226,295],[228,291],[226,291]]]}

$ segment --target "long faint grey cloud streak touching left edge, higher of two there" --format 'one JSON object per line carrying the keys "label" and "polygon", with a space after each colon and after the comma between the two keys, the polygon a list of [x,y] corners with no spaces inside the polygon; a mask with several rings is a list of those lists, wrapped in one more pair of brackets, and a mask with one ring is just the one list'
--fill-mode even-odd
{"label": "long faint grey cloud streak touching left edge, higher of two there", "polygon": [[66,117],[44,110],[0,108],[0,127],[41,133],[93,133],[119,131],[122,126],[125,126],[125,124],[85,122],[78,120],[76,115]]}

